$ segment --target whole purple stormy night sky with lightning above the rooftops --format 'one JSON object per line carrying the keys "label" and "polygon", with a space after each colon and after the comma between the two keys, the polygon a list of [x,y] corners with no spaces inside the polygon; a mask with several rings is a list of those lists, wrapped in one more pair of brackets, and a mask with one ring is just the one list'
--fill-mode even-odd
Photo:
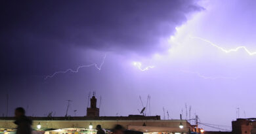
{"label": "whole purple stormy night sky with lightning above the rooftops", "polygon": [[[256,1],[0,1],[0,114],[255,117]],[[101,98],[101,103],[99,105]]]}

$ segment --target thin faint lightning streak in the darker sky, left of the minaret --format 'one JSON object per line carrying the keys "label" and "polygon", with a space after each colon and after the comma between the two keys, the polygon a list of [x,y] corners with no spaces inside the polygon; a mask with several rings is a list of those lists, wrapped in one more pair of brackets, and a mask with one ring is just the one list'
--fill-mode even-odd
{"label": "thin faint lightning streak in the darker sky, left of the minaret", "polygon": [[81,68],[83,68],[83,67],[93,67],[93,66],[94,66],[96,69],[98,69],[98,70],[100,71],[102,65],[104,64],[105,59],[106,59],[106,54],[105,54],[105,56],[103,57],[102,62],[100,63],[100,66],[98,66],[96,63],[92,63],[92,64],[89,64],[89,65],[81,65],[81,66],[77,67],[77,69],[75,69],[75,70],[73,70],[73,69],[67,69],[66,71],[57,71],[57,72],[54,72],[53,75],[47,75],[47,76],[45,77],[45,80],[46,80],[47,78],[53,78],[53,76],[58,75],[59,73],[68,73],[68,72],[71,72],[71,73],[78,73],[78,72],[79,72],[79,69],[81,69]]}

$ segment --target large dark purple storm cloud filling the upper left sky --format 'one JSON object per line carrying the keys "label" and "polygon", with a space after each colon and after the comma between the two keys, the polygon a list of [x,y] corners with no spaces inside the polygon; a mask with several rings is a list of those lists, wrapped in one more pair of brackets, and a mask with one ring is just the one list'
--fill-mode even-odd
{"label": "large dark purple storm cloud filling the upper left sky", "polygon": [[37,72],[72,57],[72,47],[151,54],[200,8],[190,0],[1,1],[2,67]]}

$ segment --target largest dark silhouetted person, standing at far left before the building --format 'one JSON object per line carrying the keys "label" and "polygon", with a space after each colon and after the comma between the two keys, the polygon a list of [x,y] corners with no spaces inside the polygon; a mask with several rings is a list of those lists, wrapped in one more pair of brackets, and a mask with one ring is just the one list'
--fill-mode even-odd
{"label": "largest dark silhouetted person, standing at far left before the building", "polygon": [[16,134],[32,134],[32,120],[25,116],[25,110],[22,107],[18,107],[15,109],[15,118],[17,131]]}

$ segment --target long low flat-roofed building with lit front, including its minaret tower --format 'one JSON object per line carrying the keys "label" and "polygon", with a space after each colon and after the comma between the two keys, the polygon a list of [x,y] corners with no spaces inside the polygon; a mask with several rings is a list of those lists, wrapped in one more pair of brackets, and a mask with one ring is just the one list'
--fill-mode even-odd
{"label": "long low flat-roofed building with lit front, including its minaret tower", "polygon": [[[87,116],[63,116],[63,117],[30,117],[33,120],[33,129],[40,124],[41,130],[68,131],[74,129],[95,129],[100,124],[104,129],[112,129],[120,124],[128,130],[141,131],[143,133],[189,133],[195,131],[194,127],[186,120],[161,120],[160,116],[99,116],[100,109],[96,107],[96,97],[91,98],[91,107],[87,108]],[[14,129],[13,117],[1,117],[0,129]],[[89,127],[91,126],[91,128]],[[182,127],[181,127],[182,126]],[[55,133],[54,131],[52,131]]]}

